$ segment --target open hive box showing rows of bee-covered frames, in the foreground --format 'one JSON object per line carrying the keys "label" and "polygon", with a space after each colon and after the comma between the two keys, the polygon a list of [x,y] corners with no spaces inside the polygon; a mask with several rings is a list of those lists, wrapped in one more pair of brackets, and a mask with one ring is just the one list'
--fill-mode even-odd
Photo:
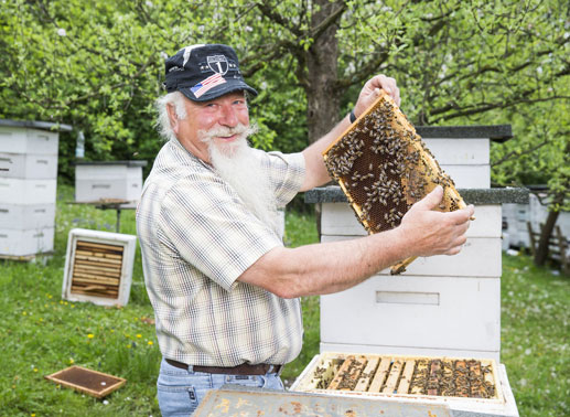
{"label": "open hive box showing rows of bee-covered frames, in the foreground", "polygon": [[416,399],[449,404],[452,409],[517,415],[516,407],[513,411],[506,404],[512,394],[505,396],[503,386],[494,360],[323,352],[305,367],[291,391]]}

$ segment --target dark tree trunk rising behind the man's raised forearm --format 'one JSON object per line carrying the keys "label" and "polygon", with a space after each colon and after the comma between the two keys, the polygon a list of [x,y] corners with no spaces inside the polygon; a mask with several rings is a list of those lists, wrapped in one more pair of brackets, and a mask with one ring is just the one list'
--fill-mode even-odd
{"label": "dark tree trunk rising behind the man's raised forearm", "polygon": [[[342,1],[318,0],[320,10],[313,13],[311,26],[316,28]],[[338,122],[341,92],[335,88],[337,81],[338,43],[336,41],[337,23],[331,24],[314,40],[306,52],[306,121],[309,142],[312,143],[327,133]]]}

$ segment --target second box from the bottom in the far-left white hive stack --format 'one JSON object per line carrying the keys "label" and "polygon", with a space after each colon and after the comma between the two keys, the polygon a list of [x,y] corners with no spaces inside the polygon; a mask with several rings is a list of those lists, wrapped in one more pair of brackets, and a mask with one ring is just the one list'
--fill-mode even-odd
{"label": "second box from the bottom in the far-left white hive stack", "polygon": [[36,205],[18,205],[0,203],[0,228],[53,227],[55,203]]}

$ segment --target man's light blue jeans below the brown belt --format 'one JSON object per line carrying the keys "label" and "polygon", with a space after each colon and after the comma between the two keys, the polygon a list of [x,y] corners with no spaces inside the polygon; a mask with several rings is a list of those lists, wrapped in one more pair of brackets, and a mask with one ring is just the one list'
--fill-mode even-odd
{"label": "man's light blue jeans below the brown belt", "polygon": [[207,374],[172,366],[164,359],[160,364],[157,391],[163,417],[189,417],[211,389],[235,384],[257,388],[284,389],[278,374],[227,375]]}

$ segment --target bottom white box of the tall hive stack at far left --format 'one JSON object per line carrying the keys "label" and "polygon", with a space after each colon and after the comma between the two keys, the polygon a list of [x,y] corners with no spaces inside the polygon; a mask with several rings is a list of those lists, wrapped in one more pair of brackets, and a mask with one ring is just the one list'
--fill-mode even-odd
{"label": "bottom white box of the tall hive stack at far left", "polygon": [[53,250],[54,227],[0,228],[0,255],[26,256]]}

